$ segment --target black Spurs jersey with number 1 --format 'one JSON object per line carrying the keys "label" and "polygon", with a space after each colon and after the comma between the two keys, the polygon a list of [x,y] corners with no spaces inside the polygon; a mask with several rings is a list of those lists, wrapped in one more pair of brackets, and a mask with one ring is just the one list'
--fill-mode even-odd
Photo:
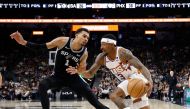
{"label": "black Spurs jersey with number 1", "polygon": [[69,38],[66,45],[57,50],[55,67],[54,67],[54,75],[61,77],[74,77],[77,74],[71,75],[66,72],[68,66],[76,67],[77,64],[80,63],[80,58],[84,54],[86,47],[82,47],[78,51],[74,51],[71,48],[72,38]]}

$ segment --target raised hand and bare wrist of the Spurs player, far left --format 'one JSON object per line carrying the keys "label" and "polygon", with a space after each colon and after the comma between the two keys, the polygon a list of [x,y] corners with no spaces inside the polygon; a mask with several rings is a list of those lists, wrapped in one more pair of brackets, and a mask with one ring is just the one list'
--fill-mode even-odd
{"label": "raised hand and bare wrist of the Spurs player, far left", "polygon": [[27,41],[25,41],[23,39],[22,35],[18,31],[12,33],[10,36],[11,36],[11,39],[15,39],[16,42],[21,44],[21,45],[26,45],[26,43],[27,43]]}

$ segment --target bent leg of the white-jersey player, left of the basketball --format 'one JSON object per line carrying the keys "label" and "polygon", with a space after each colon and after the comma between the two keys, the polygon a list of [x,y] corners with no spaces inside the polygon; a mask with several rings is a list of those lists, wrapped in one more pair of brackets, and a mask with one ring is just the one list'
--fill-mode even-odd
{"label": "bent leg of the white-jersey player, left of the basketball", "polygon": [[124,98],[128,96],[127,92],[128,80],[123,81],[118,87],[110,94],[110,99],[117,105],[119,109],[127,107]]}

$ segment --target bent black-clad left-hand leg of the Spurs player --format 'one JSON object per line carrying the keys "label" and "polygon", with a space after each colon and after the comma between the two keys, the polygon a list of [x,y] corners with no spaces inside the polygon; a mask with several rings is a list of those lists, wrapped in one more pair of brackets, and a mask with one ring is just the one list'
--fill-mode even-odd
{"label": "bent black-clad left-hand leg of the Spurs player", "polygon": [[38,92],[40,95],[40,101],[43,109],[49,109],[49,96],[47,94],[47,90],[57,87],[59,82],[54,76],[47,77],[46,79],[40,81]]}

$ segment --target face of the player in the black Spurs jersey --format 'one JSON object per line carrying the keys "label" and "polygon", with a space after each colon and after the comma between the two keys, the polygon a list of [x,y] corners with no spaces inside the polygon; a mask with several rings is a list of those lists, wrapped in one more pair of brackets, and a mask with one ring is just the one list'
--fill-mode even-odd
{"label": "face of the player in the black Spurs jersey", "polygon": [[78,41],[82,46],[85,46],[88,43],[90,36],[86,31],[82,31],[76,34],[76,38],[78,38]]}

